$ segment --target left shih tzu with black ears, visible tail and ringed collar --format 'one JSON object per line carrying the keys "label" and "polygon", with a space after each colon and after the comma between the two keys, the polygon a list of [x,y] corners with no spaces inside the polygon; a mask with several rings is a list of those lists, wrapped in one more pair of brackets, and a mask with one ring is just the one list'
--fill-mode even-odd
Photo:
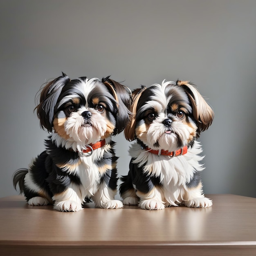
{"label": "left shih tzu with black ears, visible tail and ringed collar", "polygon": [[58,211],[79,211],[88,200],[96,207],[123,207],[114,199],[118,178],[111,136],[128,124],[129,105],[125,86],[109,77],[70,80],[63,73],[47,83],[36,107],[40,126],[50,132],[46,150],[13,176],[28,204],[53,204]]}

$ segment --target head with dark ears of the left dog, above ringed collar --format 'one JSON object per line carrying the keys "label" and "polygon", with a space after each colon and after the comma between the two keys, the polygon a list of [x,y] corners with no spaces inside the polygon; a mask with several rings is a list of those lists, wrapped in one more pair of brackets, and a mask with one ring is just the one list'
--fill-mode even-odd
{"label": "head with dark ears of the left dog, above ringed collar", "polygon": [[121,132],[129,103],[123,85],[109,77],[70,80],[63,74],[43,88],[37,114],[42,128],[83,147]]}

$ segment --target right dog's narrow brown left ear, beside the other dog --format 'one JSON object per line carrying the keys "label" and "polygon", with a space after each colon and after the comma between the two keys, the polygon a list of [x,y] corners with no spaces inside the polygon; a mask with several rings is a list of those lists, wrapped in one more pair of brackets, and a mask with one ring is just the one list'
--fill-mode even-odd
{"label": "right dog's narrow brown left ear, beside the other dog", "polygon": [[135,126],[136,126],[136,112],[139,98],[142,92],[146,90],[146,86],[141,85],[141,88],[135,89],[132,92],[132,105],[130,111],[132,112],[132,117],[130,118],[129,124],[124,129],[124,136],[128,141],[135,140]]}

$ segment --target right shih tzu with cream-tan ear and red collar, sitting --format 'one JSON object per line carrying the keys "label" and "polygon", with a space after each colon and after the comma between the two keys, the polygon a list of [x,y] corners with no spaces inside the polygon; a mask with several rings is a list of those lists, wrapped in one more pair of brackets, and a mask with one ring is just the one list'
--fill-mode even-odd
{"label": "right shih tzu with cream-tan ear and red collar, sitting", "polygon": [[197,139],[213,110],[188,81],[155,84],[132,92],[133,117],[125,128],[132,157],[119,188],[124,204],[158,210],[184,204],[210,207],[202,191],[203,156]]}

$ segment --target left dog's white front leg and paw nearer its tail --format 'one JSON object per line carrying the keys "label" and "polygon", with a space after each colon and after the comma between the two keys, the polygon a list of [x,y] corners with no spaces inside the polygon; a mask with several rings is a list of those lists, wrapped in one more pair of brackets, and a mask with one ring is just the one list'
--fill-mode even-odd
{"label": "left dog's white front leg and paw nearer its tail", "polygon": [[82,195],[79,186],[70,184],[65,191],[54,194],[54,209],[58,211],[80,211],[82,207]]}

